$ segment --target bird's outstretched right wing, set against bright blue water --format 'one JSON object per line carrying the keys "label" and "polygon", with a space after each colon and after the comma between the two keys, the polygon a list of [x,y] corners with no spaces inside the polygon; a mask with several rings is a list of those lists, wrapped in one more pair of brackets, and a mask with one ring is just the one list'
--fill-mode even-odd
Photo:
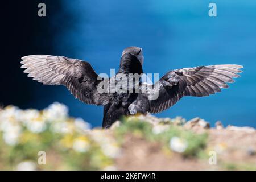
{"label": "bird's outstretched right wing, set against bright blue water", "polygon": [[226,82],[234,82],[233,77],[240,77],[241,65],[222,64],[176,69],[166,73],[159,81],[159,96],[150,100],[150,113],[159,113],[168,109],[183,96],[203,97],[221,88],[228,88]]}

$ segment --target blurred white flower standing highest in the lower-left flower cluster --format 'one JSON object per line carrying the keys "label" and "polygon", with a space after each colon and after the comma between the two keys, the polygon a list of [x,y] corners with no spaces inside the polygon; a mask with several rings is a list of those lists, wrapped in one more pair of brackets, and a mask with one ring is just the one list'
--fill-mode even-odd
{"label": "blurred white flower standing highest in the lower-left flower cluster", "polygon": [[68,117],[68,107],[59,102],[54,102],[47,109],[43,110],[43,115],[49,121],[59,121]]}

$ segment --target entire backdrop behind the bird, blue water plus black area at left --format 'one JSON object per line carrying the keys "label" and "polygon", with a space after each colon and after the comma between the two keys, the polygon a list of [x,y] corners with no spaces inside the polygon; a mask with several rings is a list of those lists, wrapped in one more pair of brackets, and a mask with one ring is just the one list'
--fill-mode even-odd
{"label": "entire backdrop behind the bird, blue water plus black area at left", "polygon": [[[47,16],[38,16],[46,3]],[[217,17],[208,5],[217,4]],[[213,96],[185,97],[158,117],[204,118],[211,125],[256,127],[256,1],[18,1],[1,5],[0,103],[43,109],[52,102],[101,126],[103,107],[75,100],[64,86],[39,84],[20,57],[63,55],[89,61],[97,73],[118,71],[125,47],[143,48],[145,73],[212,64],[241,64],[241,78]]]}

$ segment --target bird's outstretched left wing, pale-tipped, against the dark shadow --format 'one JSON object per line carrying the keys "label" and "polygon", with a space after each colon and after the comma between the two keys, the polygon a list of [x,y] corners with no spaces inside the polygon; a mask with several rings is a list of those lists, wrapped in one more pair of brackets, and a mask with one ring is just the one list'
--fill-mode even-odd
{"label": "bird's outstretched left wing, pale-tipped, against the dark shadow", "polygon": [[86,104],[105,105],[106,94],[97,92],[98,75],[85,61],[64,56],[30,55],[22,57],[22,68],[28,77],[46,85],[65,85],[68,90]]}

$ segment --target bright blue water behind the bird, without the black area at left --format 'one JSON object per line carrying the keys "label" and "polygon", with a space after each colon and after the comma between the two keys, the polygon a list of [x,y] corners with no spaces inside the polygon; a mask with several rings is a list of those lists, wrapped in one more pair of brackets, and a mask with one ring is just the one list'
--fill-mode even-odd
{"label": "bright blue water behind the bird, without the black area at left", "polygon": [[[210,2],[217,4],[217,17],[208,15]],[[142,47],[144,72],[160,77],[171,69],[197,65],[243,65],[241,78],[229,89],[204,98],[184,97],[157,116],[256,127],[256,1],[76,0],[61,6],[72,14],[67,19],[72,26],[58,24],[64,31],[55,36],[56,55],[89,61],[97,73],[117,71],[128,46]],[[63,18],[56,14],[52,24]],[[69,106],[72,116],[101,126],[103,108],[75,100],[64,86],[49,93],[37,90],[34,97],[35,107],[59,101]]]}

